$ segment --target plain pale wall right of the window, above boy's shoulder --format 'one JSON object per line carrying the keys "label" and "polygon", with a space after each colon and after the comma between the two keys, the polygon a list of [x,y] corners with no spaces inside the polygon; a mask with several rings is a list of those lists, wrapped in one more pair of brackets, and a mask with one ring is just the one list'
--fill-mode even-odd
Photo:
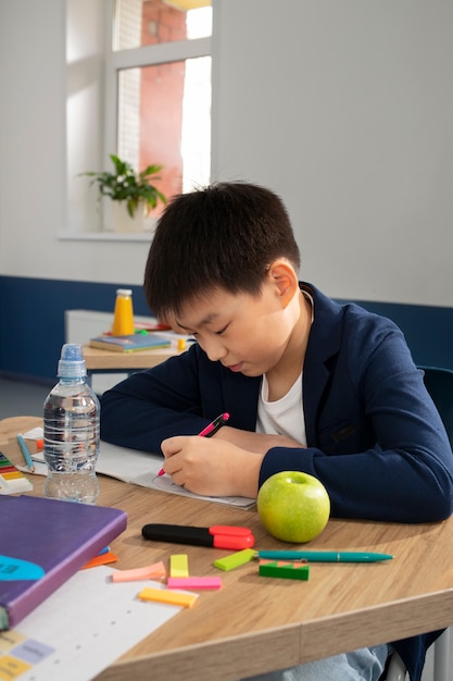
{"label": "plain pale wall right of the window, above boy's shoulder", "polygon": [[330,295],[453,305],[451,0],[221,0],[214,169],[274,187]]}

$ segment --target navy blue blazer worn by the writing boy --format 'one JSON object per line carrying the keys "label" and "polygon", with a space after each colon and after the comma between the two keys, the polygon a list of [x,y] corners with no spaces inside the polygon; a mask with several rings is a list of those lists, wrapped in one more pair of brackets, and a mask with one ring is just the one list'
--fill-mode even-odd
{"label": "navy blue blazer worn by the writing boy", "polygon": [[[402,332],[356,305],[340,306],[310,284],[314,321],[303,364],[306,448],[273,447],[260,485],[301,470],[326,486],[340,518],[431,522],[453,512],[453,457],[437,409]],[[134,374],[101,400],[101,436],[159,451],[162,439],[197,434],[218,413],[254,431],[261,377],[232,373],[194,344]],[[437,634],[395,643],[412,681]]]}

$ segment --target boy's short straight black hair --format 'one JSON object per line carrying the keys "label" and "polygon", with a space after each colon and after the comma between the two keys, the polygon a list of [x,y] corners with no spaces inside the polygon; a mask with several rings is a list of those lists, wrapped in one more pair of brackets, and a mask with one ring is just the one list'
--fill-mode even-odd
{"label": "boy's short straight black hair", "polygon": [[166,207],[148,255],[144,295],[159,319],[214,289],[256,295],[268,265],[281,257],[299,270],[281,199],[253,184],[213,184]]}

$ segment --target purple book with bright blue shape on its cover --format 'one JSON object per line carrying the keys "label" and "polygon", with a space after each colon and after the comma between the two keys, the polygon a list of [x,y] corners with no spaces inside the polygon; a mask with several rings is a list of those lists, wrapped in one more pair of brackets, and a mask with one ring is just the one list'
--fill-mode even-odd
{"label": "purple book with bright blue shape on its cover", "polygon": [[15,627],[121,534],[125,511],[0,496],[0,631]]}

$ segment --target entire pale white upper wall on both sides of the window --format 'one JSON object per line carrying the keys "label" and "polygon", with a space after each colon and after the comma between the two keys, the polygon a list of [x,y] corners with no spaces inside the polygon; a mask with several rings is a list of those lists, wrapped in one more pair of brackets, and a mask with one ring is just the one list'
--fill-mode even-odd
{"label": "entire pale white upper wall on both sides of the window", "polygon": [[[451,0],[214,4],[214,178],[282,196],[326,293],[453,306]],[[62,0],[2,0],[0,274],[139,284],[148,244],[56,238],[77,211],[64,50]]]}

